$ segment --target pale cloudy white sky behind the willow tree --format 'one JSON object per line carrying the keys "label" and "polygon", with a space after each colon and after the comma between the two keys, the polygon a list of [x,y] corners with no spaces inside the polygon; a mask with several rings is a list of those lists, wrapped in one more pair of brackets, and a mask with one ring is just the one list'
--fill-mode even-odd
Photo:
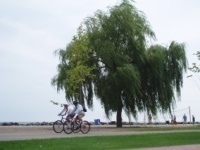
{"label": "pale cloudy white sky behind the willow tree", "polygon": [[[65,46],[76,34],[80,23],[98,9],[107,10],[117,0],[1,0],[0,1],[0,122],[54,121],[65,103],[64,92],[57,93],[51,78],[57,74],[58,57],[53,52]],[[199,0],[135,0],[135,6],[146,14],[157,36],[156,43],[168,45],[172,40],[187,44],[189,64],[200,50]],[[198,62],[198,61],[197,61]],[[190,75],[188,72],[185,76]],[[200,120],[200,78],[185,78],[181,101],[175,110],[191,108]],[[85,119],[105,118],[95,102]],[[179,111],[181,121],[185,111]],[[166,117],[166,116],[165,116]],[[111,120],[115,120],[113,114]],[[123,116],[124,121],[128,121]],[[164,118],[159,116],[159,120]],[[138,121],[144,120],[144,114]]]}

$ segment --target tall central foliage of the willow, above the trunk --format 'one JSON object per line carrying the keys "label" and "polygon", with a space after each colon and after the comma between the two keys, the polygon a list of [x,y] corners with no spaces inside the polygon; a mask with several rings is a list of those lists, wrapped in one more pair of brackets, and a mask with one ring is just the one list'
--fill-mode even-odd
{"label": "tall central foliage of the willow, above the trunk", "polygon": [[97,11],[85,25],[90,44],[99,61],[94,82],[96,95],[107,116],[124,106],[129,115],[136,115],[140,91],[139,67],[144,63],[146,41],[155,39],[145,15],[129,1],[122,1],[108,12]]}

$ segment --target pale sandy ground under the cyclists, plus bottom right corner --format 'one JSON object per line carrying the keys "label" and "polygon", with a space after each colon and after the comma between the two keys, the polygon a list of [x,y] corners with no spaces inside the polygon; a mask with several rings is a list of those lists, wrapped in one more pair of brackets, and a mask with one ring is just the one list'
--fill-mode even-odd
{"label": "pale sandy ground under the cyclists, plus bottom right corner", "polygon": [[[156,133],[163,133],[163,132],[164,131],[156,131]],[[182,132],[182,131],[167,131],[167,132]],[[193,132],[200,132],[200,131],[194,130]],[[147,133],[155,133],[155,131],[142,131],[142,132],[130,131],[128,130],[128,128],[116,128],[115,126],[92,125],[90,132],[88,134],[82,134],[81,132],[65,134],[64,132],[55,133],[52,129],[52,126],[0,126],[0,141],[46,139],[46,138],[70,138],[78,136],[82,137],[82,136],[103,136],[103,135],[128,135],[128,134],[130,135],[130,134],[147,134]],[[200,145],[146,148],[145,150],[200,150]]]}

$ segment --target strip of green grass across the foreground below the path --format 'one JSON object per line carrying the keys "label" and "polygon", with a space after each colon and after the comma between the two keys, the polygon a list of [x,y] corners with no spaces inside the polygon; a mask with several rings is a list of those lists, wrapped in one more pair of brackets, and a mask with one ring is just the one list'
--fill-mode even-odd
{"label": "strip of green grass across the foreground below the path", "polygon": [[0,150],[110,150],[200,144],[200,132],[0,141]]}

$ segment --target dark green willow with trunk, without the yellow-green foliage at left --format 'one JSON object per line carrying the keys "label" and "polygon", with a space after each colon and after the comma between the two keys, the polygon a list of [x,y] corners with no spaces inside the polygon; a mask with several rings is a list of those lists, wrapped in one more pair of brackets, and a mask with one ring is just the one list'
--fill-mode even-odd
{"label": "dark green willow with trunk, without the yellow-green foliage at left", "polygon": [[155,34],[145,15],[129,1],[97,11],[85,21],[90,45],[98,60],[95,94],[107,116],[122,110],[137,117],[138,112],[171,111],[175,94],[180,97],[183,72],[187,68],[185,45],[148,46]]}

